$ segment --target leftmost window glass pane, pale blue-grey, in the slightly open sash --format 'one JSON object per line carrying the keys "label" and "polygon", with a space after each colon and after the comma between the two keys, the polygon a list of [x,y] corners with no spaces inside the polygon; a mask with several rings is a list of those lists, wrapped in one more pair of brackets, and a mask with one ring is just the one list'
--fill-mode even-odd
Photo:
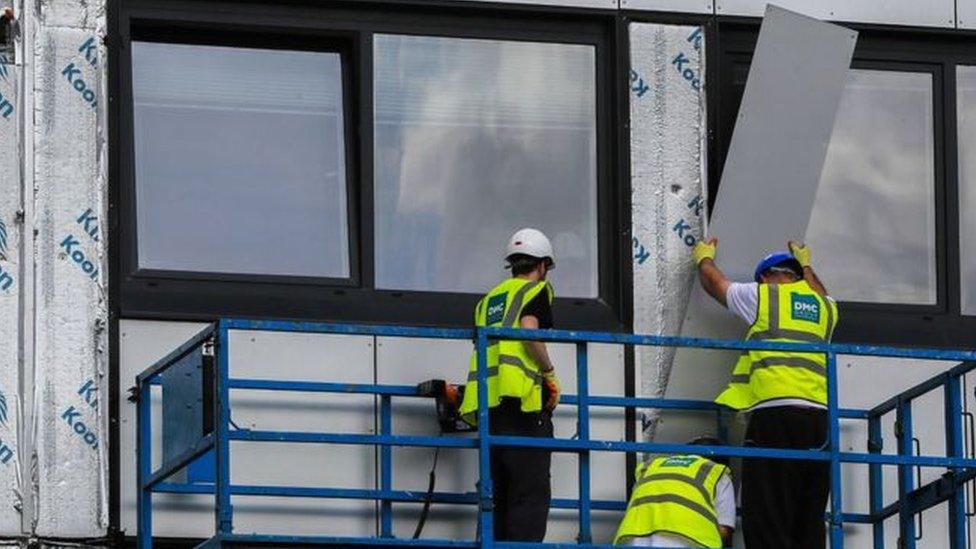
{"label": "leftmost window glass pane, pale blue-grey, in the slightly open sash", "polygon": [[131,55],[138,267],[348,278],[339,54]]}

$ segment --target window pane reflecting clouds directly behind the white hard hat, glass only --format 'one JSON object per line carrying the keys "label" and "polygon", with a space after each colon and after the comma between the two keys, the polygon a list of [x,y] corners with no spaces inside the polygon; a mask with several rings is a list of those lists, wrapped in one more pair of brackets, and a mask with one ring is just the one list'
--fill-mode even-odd
{"label": "window pane reflecting clouds directly behind the white hard hat, glass only", "polygon": [[532,226],[553,240],[560,295],[596,297],[595,48],[374,44],[377,287],[483,292]]}

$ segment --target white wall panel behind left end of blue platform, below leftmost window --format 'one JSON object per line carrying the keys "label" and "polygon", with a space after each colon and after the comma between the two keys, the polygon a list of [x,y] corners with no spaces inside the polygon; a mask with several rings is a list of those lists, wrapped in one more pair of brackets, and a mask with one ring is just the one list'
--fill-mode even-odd
{"label": "white wall panel behind left end of blue platform, below leftmost window", "polygon": [[[136,374],[203,327],[197,323],[123,321],[120,325],[120,390]],[[231,332],[231,376],[251,379],[370,383],[372,338],[267,332]],[[159,414],[159,404],[155,402]],[[135,404],[120,400],[122,528],[135,532]],[[231,417],[241,428],[372,433],[373,399],[363,395],[235,391]],[[159,459],[158,422],[153,441]],[[158,463],[158,461],[157,461]],[[257,485],[372,488],[374,451],[366,446],[237,443],[231,481]],[[154,497],[154,533],[209,537],[211,496]],[[239,532],[373,535],[373,502],[298,498],[234,498]]]}

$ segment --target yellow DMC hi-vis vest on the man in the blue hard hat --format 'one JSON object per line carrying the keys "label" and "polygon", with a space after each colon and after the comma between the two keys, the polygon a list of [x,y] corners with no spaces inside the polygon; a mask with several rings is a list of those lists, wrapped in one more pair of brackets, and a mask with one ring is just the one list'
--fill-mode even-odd
{"label": "yellow DMC hi-vis vest on the man in the blue hard hat", "polygon": [[[749,341],[825,343],[837,325],[837,304],[820,297],[806,281],[760,284],[756,322]],[[715,402],[742,410],[780,398],[827,404],[827,359],[821,353],[748,351]]]}

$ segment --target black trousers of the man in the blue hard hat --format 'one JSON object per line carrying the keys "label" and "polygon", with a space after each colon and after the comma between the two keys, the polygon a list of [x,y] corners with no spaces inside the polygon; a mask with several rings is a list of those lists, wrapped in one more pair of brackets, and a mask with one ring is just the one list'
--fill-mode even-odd
{"label": "black trousers of the man in the blue hard hat", "polygon": [[[827,411],[781,406],[752,412],[746,446],[820,449]],[[742,461],[742,534],[747,549],[824,549],[830,464],[791,459]]]}

